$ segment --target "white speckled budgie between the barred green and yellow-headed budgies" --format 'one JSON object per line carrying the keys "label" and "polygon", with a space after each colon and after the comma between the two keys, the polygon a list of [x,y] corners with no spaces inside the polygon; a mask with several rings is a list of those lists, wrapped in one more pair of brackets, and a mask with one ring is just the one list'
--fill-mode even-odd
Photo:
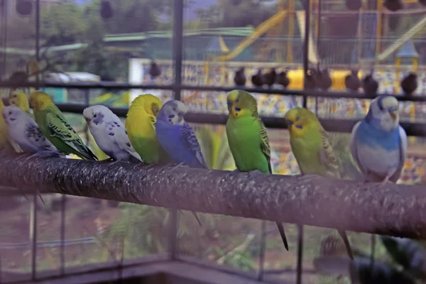
{"label": "white speckled budgie between the barred green and yellow-headed budgies", "polygon": [[131,146],[123,122],[109,108],[97,105],[83,111],[90,133],[99,148],[113,160],[141,160]]}

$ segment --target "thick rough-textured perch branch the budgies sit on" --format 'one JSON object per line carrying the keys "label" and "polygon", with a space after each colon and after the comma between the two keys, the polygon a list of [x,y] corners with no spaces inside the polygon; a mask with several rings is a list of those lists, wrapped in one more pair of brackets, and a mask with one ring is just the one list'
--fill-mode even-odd
{"label": "thick rough-textured perch branch the budgies sit on", "polygon": [[426,188],[0,153],[0,185],[426,238]]}

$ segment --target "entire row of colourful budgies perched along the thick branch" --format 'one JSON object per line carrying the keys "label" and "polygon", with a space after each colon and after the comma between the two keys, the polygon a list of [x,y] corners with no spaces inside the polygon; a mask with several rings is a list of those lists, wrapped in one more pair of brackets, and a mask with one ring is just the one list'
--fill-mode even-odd
{"label": "entire row of colourful budgies perched along the thick branch", "polygon": [[[235,89],[229,92],[226,100],[229,110],[226,136],[237,169],[272,174],[271,148],[266,127],[258,114],[256,98],[249,92]],[[8,141],[17,144],[13,148],[21,148],[30,153],[30,157],[72,153],[82,159],[97,160],[48,94],[35,91],[30,102],[34,116],[23,92],[11,92],[8,107],[1,103],[0,138],[4,138],[3,146]],[[83,116],[94,140],[111,157],[112,163],[176,163],[177,167],[187,165],[207,169],[197,137],[185,121],[187,111],[187,106],[180,101],[170,100],[162,104],[158,97],[142,94],[131,102],[125,124],[102,105],[87,107]],[[408,143],[405,131],[399,125],[395,97],[373,99],[368,114],[352,130],[349,155],[337,155],[331,136],[308,109],[290,109],[285,114],[285,121],[290,146],[302,175],[362,179],[381,182],[381,185],[400,178]],[[192,213],[197,218],[197,214]],[[288,250],[283,224],[276,224]],[[346,233],[339,231],[339,234],[353,258]]]}

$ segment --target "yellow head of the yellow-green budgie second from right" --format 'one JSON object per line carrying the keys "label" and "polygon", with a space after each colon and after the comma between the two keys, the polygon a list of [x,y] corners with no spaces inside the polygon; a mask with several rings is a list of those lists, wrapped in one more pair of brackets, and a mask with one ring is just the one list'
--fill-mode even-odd
{"label": "yellow head of the yellow-green budgie second from right", "polygon": [[295,137],[303,136],[307,129],[317,128],[320,124],[317,116],[312,111],[302,107],[290,109],[285,114],[284,119],[290,135]]}

